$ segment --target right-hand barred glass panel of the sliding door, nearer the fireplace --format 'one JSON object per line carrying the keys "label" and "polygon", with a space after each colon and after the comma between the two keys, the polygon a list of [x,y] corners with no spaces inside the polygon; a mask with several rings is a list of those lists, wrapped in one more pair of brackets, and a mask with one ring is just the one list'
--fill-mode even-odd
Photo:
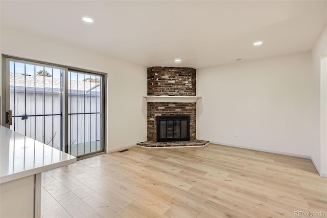
{"label": "right-hand barred glass panel of the sliding door, nearer the fireplace", "polygon": [[68,154],[103,151],[103,76],[68,71]]}

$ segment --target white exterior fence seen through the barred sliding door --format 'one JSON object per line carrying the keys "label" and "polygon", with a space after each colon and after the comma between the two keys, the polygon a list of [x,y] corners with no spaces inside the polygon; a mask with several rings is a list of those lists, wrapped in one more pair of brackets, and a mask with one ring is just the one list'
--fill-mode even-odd
{"label": "white exterior fence seen through the barred sliding door", "polygon": [[[43,92],[15,87],[10,89],[10,108],[14,108],[11,129],[42,143],[61,149],[62,104],[60,90]],[[15,99],[15,102],[14,102]],[[68,92],[68,145],[98,144],[101,139],[101,97],[100,92],[72,90]],[[98,129],[98,130],[97,130]],[[75,146],[74,146],[75,145]],[[80,148],[82,149],[82,148]],[[99,150],[99,149],[96,149]],[[69,151],[69,148],[68,148]],[[95,151],[95,150],[94,150]],[[81,150],[81,152],[83,152]],[[78,155],[81,154],[79,152]],[[85,151],[84,151],[85,152]],[[75,151],[71,150],[72,155]],[[75,154],[77,155],[77,154]]]}

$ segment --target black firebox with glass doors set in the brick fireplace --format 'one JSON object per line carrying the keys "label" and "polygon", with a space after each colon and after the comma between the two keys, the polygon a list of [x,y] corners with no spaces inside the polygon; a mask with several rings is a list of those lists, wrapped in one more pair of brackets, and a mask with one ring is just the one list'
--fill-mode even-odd
{"label": "black firebox with glass doors set in the brick fireplace", "polygon": [[190,116],[157,116],[157,141],[190,141]]}

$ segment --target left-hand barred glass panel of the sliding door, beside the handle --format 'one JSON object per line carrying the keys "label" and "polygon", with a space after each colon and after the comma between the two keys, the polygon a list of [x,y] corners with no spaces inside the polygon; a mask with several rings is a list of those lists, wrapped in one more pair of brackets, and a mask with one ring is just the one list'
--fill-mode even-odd
{"label": "left-hand barred glass panel of the sliding door, beside the handle", "polygon": [[64,70],[9,61],[10,110],[16,132],[62,150],[62,75]]}

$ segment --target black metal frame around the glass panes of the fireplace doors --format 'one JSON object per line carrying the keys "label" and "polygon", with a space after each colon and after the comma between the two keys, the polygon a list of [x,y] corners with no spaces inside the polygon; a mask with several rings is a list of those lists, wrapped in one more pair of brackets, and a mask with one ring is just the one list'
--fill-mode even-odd
{"label": "black metal frame around the glass panes of the fireplace doors", "polygon": [[[190,141],[190,116],[157,116],[157,142]],[[175,138],[175,121],[186,120],[186,137]],[[160,138],[160,121],[166,121],[166,138]],[[168,121],[173,121],[173,137],[168,138]],[[181,135],[181,124],[180,124]]]}

